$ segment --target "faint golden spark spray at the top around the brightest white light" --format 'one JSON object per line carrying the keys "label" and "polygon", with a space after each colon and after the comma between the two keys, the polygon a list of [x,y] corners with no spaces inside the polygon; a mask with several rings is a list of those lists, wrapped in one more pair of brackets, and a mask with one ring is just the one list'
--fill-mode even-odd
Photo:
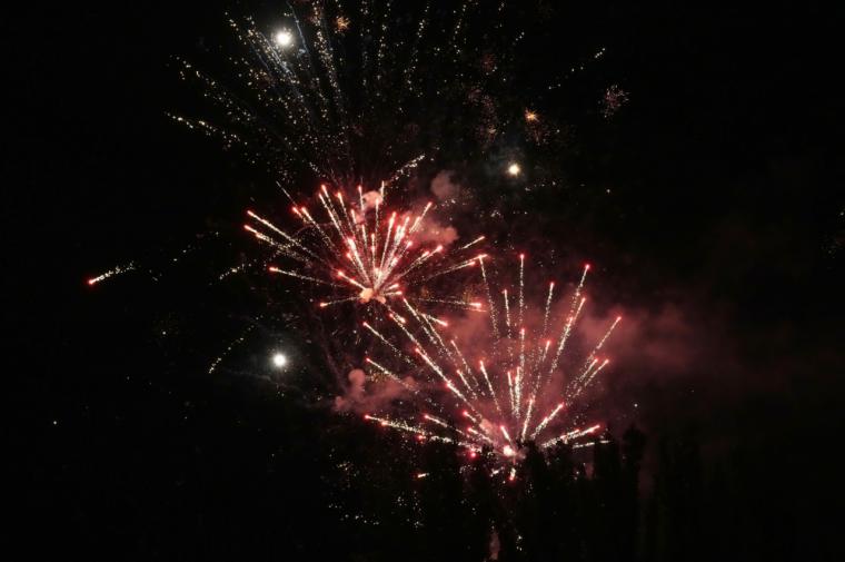
{"label": "faint golden spark spray at the top around the brightest white light", "polygon": [[[242,53],[230,58],[238,80],[223,83],[188,61],[180,69],[182,79],[198,81],[205,97],[222,110],[221,125],[171,117],[227,148],[241,149],[251,162],[286,179],[302,170],[335,185],[389,177],[418,149],[416,135],[402,131],[418,130],[417,121],[430,114],[420,106],[425,87],[454,91],[456,100],[463,95],[455,76],[458,53],[466,48],[466,11],[465,3],[444,29],[429,26],[428,3],[419,11],[408,9],[406,28],[397,23],[390,2],[369,0],[360,2],[357,13],[341,2],[289,4],[281,13],[284,26],[276,29],[262,29],[251,18],[230,18],[242,46]],[[426,39],[440,48],[422,49]],[[421,62],[425,76],[418,71]],[[433,69],[441,71],[434,75]],[[419,115],[409,115],[409,105],[419,107]]]}

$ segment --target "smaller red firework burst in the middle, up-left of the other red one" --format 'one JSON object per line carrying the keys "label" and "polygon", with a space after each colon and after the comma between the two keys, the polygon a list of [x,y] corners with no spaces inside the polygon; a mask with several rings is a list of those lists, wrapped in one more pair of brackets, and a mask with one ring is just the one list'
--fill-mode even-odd
{"label": "smaller red firework burst in the middle, up-left of the other red one", "polygon": [[[414,215],[390,210],[385,197],[384,184],[378,191],[366,193],[358,186],[351,200],[342,190],[332,193],[322,185],[317,193],[319,214],[291,198],[299,229],[288,233],[251,210],[247,211],[251,223],[245,228],[287,258],[287,266],[271,265],[270,273],[326,289],[320,307],[349,302],[387,305],[389,300],[410,298],[480,308],[480,303],[431,298],[427,287],[439,276],[477,265],[478,255],[468,256],[484,237],[460,246],[453,259],[443,244],[416,240],[425,234],[431,203]],[[424,288],[427,296],[422,295]],[[443,323],[430,316],[425,319]]]}

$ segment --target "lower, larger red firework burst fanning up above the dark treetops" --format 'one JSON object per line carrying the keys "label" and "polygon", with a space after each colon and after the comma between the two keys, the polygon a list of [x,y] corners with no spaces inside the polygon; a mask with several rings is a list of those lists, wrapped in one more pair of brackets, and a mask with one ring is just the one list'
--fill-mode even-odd
{"label": "lower, larger red firework burst fanning up above the dark treetops", "polygon": [[[477,259],[483,266],[484,258]],[[428,388],[434,388],[429,397],[436,397],[437,416],[425,413],[418,421],[408,421],[368,414],[367,420],[425,438],[437,436],[476,453],[489,447],[503,463],[510,464],[518,462],[524,444],[529,441],[547,448],[595,434],[598,425],[574,426],[577,417],[570,414],[570,406],[578,403],[589,384],[608,365],[609,361],[599,353],[620,318],[609,324],[580,368],[566,373],[561,368],[567,344],[586,302],[583,293],[589,268],[589,265],[584,266],[560,318],[551,313],[555,308],[554,283],[548,286],[545,306],[538,309],[540,314],[529,314],[531,310],[525,299],[524,255],[519,256],[516,296],[501,290],[500,304],[493,298],[494,292],[481,268],[483,284],[489,295],[488,333],[493,342],[491,347],[481,349],[481,353],[471,347],[465,349],[448,334],[448,326],[428,322],[411,303],[400,298],[405,316],[417,322],[417,329],[409,328],[407,321],[398,322],[398,313],[391,313],[389,316],[405,342],[395,344],[385,334],[374,333],[395,357],[416,366],[418,373],[436,383],[429,384]],[[529,315],[540,319],[531,323]],[[537,324],[537,328],[531,331],[527,324]],[[411,347],[414,353],[402,352],[402,346]],[[478,356],[475,368],[470,366],[474,355]],[[541,404],[551,405],[540,412]],[[514,472],[510,474],[513,476]]]}

